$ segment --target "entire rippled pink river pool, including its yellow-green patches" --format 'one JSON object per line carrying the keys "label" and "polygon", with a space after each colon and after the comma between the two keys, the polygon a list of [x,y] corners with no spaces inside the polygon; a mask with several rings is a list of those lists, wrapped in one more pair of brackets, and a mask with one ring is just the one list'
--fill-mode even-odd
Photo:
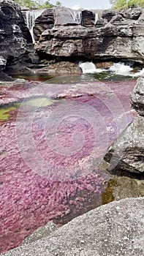
{"label": "entire rippled pink river pool, including its yellow-green patches", "polygon": [[136,115],[134,85],[82,75],[1,86],[1,252],[114,200],[99,164]]}

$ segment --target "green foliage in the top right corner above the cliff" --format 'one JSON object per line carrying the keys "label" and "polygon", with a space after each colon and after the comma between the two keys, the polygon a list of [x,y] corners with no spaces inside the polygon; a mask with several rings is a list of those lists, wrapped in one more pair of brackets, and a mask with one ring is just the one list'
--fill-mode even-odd
{"label": "green foliage in the top right corner above the cliff", "polygon": [[110,0],[114,10],[127,9],[129,7],[144,7],[144,0]]}

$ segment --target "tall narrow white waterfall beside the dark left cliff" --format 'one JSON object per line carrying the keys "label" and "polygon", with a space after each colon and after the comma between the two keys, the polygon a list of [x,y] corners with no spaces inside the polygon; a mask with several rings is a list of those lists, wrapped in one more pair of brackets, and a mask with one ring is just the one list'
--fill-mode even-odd
{"label": "tall narrow white waterfall beside the dark left cliff", "polygon": [[26,25],[29,28],[29,31],[31,33],[31,37],[32,37],[32,42],[34,43],[34,32],[33,32],[33,28],[34,28],[34,23],[35,20],[42,14],[42,12],[44,12],[45,10],[28,10],[26,11]]}

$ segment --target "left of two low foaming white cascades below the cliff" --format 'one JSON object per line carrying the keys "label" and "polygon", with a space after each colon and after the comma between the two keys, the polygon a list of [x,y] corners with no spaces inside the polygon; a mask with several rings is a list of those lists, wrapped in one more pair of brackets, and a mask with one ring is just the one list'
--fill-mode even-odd
{"label": "left of two low foaming white cascades below the cliff", "polygon": [[94,63],[92,61],[91,62],[86,61],[86,62],[80,63],[79,67],[81,67],[83,74],[99,73],[99,72],[105,71],[105,69],[96,69],[96,66],[94,65]]}

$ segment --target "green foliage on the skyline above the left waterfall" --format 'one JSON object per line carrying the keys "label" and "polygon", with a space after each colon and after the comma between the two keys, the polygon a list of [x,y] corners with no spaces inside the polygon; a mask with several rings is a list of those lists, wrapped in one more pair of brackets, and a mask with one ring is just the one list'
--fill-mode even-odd
{"label": "green foliage on the skyline above the left waterfall", "polygon": [[61,2],[56,1],[56,5],[50,4],[50,1],[43,0],[13,0],[21,7],[28,7],[29,9],[47,9],[51,7],[61,7]]}

